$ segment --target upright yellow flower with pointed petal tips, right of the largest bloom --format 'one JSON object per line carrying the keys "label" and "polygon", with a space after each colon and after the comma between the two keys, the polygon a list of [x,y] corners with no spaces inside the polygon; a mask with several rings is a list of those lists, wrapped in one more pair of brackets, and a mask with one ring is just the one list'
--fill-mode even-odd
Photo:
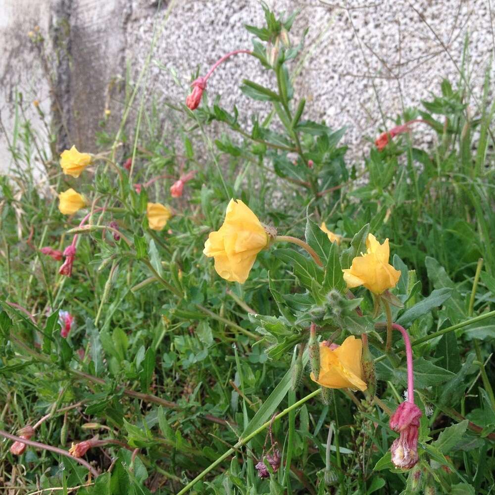
{"label": "upright yellow flower with pointed petal tips, right of the largest bloom", "polygon": [[389,240],[380,244],[376,237],[368,234],[366,239],[367,253],[361,253],[352,260],[352,265],[344,272],[347,287],[352,289],[363,285],[373,294],[382,294],[396,286],[400,272],[389,264]]}

